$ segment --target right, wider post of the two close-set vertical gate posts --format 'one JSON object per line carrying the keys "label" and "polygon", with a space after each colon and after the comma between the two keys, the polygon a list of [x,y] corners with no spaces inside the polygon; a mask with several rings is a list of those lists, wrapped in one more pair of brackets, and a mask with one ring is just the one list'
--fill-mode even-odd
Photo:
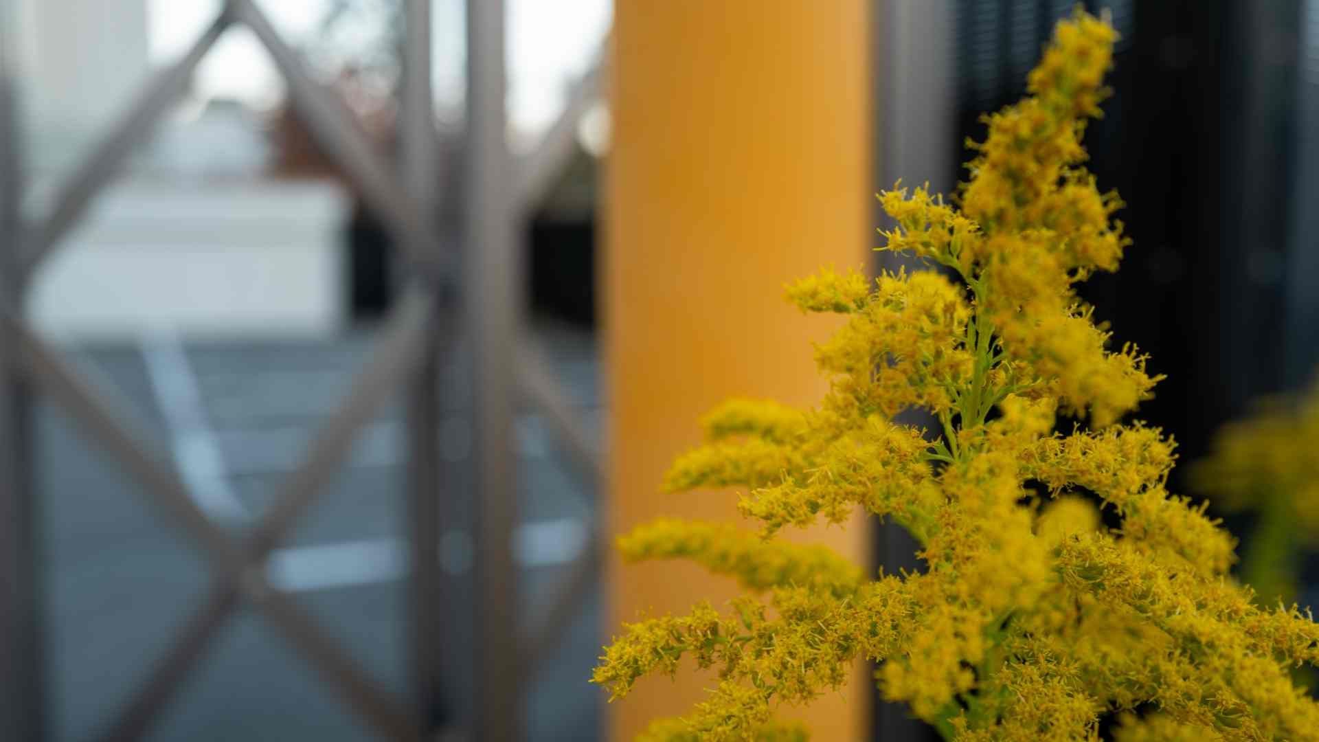
{"label": "right, wider post of the two close-set vertical gate posts", "polygon": [[467,1],[463,310],[472,349],[476,479],[476,737],[520,735],[513,568],[517,242],[505,143],[504,1]]}

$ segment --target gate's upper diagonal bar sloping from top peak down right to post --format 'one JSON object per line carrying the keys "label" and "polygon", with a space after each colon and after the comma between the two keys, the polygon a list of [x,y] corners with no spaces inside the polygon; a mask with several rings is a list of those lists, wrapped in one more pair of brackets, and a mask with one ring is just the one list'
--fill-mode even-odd
{"label": "gate's upper diagonal bar sloping from top peak down right to post", "polygon": [[389,227],[394,240],[409,251],[426,244],[425,220],[417,203],[393,177],[343,100],[317,82],[302,55],[284,41],[252,0],[228,0],[228,12],[251,28],[270,51],[276,67],[289,83],[289,96],[302,114],[303,123],[357,186],[361,198]]}

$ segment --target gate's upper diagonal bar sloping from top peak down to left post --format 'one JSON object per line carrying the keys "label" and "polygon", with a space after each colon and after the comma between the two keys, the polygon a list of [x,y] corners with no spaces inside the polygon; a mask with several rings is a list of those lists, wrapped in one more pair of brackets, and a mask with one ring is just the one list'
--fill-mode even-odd
{"label": "gate's upper diagonal bar sloping from top peak down to left post", "polygon": [[26,276],[36,269],[42,259],[55,248],[61,238],[78,223],[87,206],[115,177],[120,162],[150,135],[156,121],[183,95],[197,65],[211,50],[215,40],[224,33],[228,25],[230,16],[220,13],[179,61],[161,70],[152,79],[124,118],[96,145],[91,156],[69,176],[57,191],[50,215],[33,230],[32,242],[20,265],[20,275]]}

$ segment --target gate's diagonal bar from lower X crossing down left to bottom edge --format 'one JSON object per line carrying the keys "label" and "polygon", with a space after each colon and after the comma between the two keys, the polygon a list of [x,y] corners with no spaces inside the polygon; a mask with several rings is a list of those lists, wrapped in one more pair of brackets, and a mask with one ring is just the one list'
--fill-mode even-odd
{"label": "gate's diagonal bar from lower X crossing down left to bottom edge", "polygon": [[202,610],[197,611],[178,632],[178,638],[160,659],[150,677],[141,685],[132,701],[99,737],[102,742],[132,742],[141,739],[183,685],[187,673],[211,646],[215,632],[239,605],[239,593],[232,584],[216,585]]}

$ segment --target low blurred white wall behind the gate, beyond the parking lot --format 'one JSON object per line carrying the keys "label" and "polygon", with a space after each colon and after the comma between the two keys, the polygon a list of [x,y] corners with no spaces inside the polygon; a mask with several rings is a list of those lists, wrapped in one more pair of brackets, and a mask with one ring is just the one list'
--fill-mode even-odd
{"label": "low blurred white wall behind the gate, beyond the parking lot", "polygon": [[324,337],[340,329],[343,189],[321,181],[144,181],[106,191],[34,277],[26,312],[61,339]]}

